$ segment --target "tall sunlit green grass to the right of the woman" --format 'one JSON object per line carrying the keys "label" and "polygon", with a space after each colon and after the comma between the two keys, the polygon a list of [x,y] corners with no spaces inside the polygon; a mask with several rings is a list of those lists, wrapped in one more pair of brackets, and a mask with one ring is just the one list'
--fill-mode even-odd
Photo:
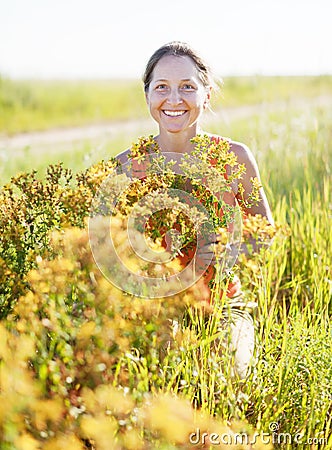
{"label": "tall sunlit green grass to the right of the woman", "polygon": [[307,108],[253,117],[232,130],[249,137],[275,220],[285,227],[257,266],[242,268],[259,304],[259,363],[245,386],[249,420],[325,438],[325,446],[300,448],[332,446],[331,123],[330,109]]}

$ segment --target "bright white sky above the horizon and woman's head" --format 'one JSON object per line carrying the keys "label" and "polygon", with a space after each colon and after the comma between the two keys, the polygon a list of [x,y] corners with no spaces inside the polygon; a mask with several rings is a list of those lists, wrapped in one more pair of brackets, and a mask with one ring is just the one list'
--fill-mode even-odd
{"label": "bright white sky above the horizon and woman's head", "polygon": [[0,0],[0,75],[141,78],[172,40],[219,76],[332,74],[331,0]]}

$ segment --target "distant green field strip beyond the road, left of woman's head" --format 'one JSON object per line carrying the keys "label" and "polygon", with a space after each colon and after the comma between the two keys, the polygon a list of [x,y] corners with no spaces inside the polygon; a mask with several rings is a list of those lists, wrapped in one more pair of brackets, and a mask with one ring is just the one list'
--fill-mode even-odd
{"label": "distant green field strip beyond the road, left of woman's head", "polygon": [[13,81],[0,77],[0,133],[146,115],[137,81]]}

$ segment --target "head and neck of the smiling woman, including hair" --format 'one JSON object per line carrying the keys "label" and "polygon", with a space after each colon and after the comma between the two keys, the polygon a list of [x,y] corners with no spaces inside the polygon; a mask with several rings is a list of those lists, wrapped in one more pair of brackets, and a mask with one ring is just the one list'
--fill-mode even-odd
{"label": "head and neck of the smiling woman, including hair", "polygon": [[[190,139],[199,131],[198,119],[209,104],[214,84],[208,65],[188,45],[173,42],[151,56],[143,83],[151,116],[159,124],[157,142],[160,147],[163,148],[166,140],[167,151],[189,149]],[[180,131],[184,138],[181,139],[182,150],[177,142]],[[177,135],[172,136],[172,133]]]}

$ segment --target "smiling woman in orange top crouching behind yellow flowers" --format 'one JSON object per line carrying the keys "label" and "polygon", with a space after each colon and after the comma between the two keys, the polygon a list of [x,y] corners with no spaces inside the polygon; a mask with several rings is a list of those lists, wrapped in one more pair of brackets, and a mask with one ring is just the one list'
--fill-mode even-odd
{"label": "smiling woman in orange top crouching behind yellow flowers", "polygon": [[[181,158],[185,155],[194,156],[195,142],[197,142],[197,138],[203,136],[208,148],[208,170],[213,171],[218,167],[219,178],[230,180],[228,191],[220,187],[216,193],[218,202],[224,201],[225,205],[225,210],[220,211],[219,219],[224,217],[224,213],[226,216],[226,210],[229,212],[232,208],[240,206],[245,217],[260,215],[267,223],[273,225],[271,211],[264,190],[260,186],[257,164],[247,146],[228,138],[203,132],[200,128],[200,118],[208,108],[214,83],[209,67],[196,52],[187,44],[181,42],[171,42],[164,45],[151,56],[143,82],[150,114],[159,126],[159,134],[152,138],[151,148],[146,149],[146,152],[151,156],[151,160],[154,159],[153,150],[156,154],[164,155],[165,158],[167,155],[168,157],[171,155],[172,160],[177,162],[179,162],[179,159],[181,161]],[[236,162],[233,165],[225,162],[219,164],[222,158],[222,150],[221,146],[218,147],[219,144],[221,146],[224,144],[226,155],[234,156]],[[124,167],[128,163],[128,158],[132,159],[131,170],[134,177],[140,178],[144,185],[148,169],[145,167],[143,160],[135,160],[131,152],[132,150],[123,152],[118,155],[118,159]],[[157,159],[158,155],[155,160]],[[227,157],[225,160],[227,160]],[[241,184],[239,184],[235,173],[239,173],[238,170],[242,171],[242,167],[244,167],[245,173],[242,176]],[[158,176],[158,173],[156,172],[155,175]],[[205,175],[202,176],[203,185],[204,177]],[[256,186],[259,190],[259,199],[256,203],[252,202],[254,179],[257,181]],[[191,181],[192,179],[186,179],[183,183],[183,190],[189,196],[194,192]],[[188,198],[188,195],[186,198]],[[177,225],[179,225],[178,228],[181,228],[180,224]],[[234,223],[231,223],[231,225],[234,228]],[[162,235],[161,228],[157,230],[159,235]],[[178,232],[179,230],[176,229],[175,231]],[[164,238],[163,245],[168,247],[167,234]],[[220,242],[221,238],[222,234],[214,235],[212,240],[209,238],[208,241],[204,241],[202,248],[199,249],[197,244],[196,250],[198,251],[195,255],[187,247],[181,248],[178,252],[178,258],[186,269],[195,258],[195,267],[202,261],[207,262],[208,268],[203,276],[205,288],[202,287],[202,284],[199,288],[197,287],[202,302],[213,303],[216,299],[217,301],[218,299],[224,301],[225,297],[228,299],[227,304],[221,306],[223,318],[220,321],[220,329],[228,330],[227,344],[234,353],[234,372],[243,379],[248,373],[254,351],[254,326],[249,312],[253,305],[247,304],[241,292],[239,279],[233,276],[234,274],[230,277],[229,271],[224,271],[223,276],[228,279],[223,288],[221,288],[221,285],[217,286],[217,282],[215,282],[218,278],[219,269],[211,246],[213,247],[214,244]],[[254,249],[260,246],[260,242],[255,240],[250,241],[250,244]],[[231,256],[235,255],[235,262],[239,249],[238,247],[235,249],[229,247]],[[247,249],[244,246],[241,250],[246,251]],[[198,257],[197,254],[199,254]],[[231,268],[232,266],[230,266]],[[227,269],[229,269],[229,266]],[[217,292],[216,295],[214,295],[215,292]]]}

